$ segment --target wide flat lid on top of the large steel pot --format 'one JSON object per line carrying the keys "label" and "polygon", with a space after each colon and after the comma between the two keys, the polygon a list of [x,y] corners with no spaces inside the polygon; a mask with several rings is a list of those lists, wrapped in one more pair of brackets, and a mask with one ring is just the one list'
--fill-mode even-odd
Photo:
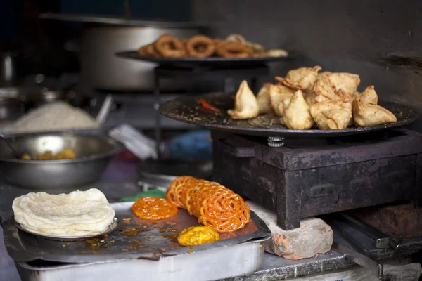
{"label": "wide flat lid on top of the large steel pot", "polygon": [[41,13],[39,18],[49,20],[63,20],[70,22],[89,22],[106,25],[139,26],[139,27],[203,27],[198,22],[165,22],[150,20],[134,20],[127,18],[115,18],[107,15],[73,15],[65,13]]}

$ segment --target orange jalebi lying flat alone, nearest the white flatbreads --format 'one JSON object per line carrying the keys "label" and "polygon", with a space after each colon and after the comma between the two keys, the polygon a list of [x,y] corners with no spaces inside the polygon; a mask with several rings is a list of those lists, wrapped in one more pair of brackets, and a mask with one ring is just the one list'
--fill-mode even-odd
{"label": "orange jalebi lying flat alone, nearest the white flatbreads", "polygon": [[139,218],[155,221],[176,216],[177,207],[161,197],[141,197],[132,205]]}

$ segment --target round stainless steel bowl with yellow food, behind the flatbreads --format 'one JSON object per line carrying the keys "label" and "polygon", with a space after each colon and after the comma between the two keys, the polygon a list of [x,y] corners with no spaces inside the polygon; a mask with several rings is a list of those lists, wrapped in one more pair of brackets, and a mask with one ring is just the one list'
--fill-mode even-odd
{"label": "round stainless steel bowl with yellow food, behind the flatbreads", "polygon": [[21,154],[53,154],[70,148],[77,159],[22,160],[11,154],[0,141],[0,175],[4,180],[24,188],[77,188],[97,181],[114,155],[123,145],[105,134],[34,133],[8,138],[13,149]]}

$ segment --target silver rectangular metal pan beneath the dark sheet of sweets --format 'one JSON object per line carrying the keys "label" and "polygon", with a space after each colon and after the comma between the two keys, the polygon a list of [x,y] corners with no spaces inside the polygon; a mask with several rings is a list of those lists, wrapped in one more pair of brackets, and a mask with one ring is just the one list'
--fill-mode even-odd
{"label": "silver rectangular metal pan beneath the dark sheet of sweets", "polygon": [[[22,280],[221,280],[248,275],[264,261],[262,241],[245,242],[192,254],[166,256],[160,261],[127,259],[100,263],[15,263]],[[94,276],[94,277],[93,277]]]}

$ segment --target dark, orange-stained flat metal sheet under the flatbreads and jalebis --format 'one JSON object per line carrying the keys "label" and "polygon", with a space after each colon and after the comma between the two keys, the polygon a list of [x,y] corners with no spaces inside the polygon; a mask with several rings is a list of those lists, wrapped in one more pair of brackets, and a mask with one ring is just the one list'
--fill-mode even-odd
{"label": "dark, orange-stained flat metal sheet under the flatbreads and jalebis", "polygon": [[[251,221],[236,233],[222,233],[220,240],[194,247],[181,247],[177,235],[189,226],[199,225],[194,216],[179,209],[173,218],[145,221],[132,213],[134,202],[112,203],[119,221],[117,230],[87,240],[59,242],[30,235],[18,230],[12,217],[3,223],[4,243],[9,256],[15,261],[56,261],[62,263],[98,263],[124,259],[149,259],[158,261],[165,256],[195,253],[227,247],[247,241],[263,241],[271,231],[251,211]],[[130,221],[125,219],[130,218]],[[128,230],[129,229],[129,230]]]}

